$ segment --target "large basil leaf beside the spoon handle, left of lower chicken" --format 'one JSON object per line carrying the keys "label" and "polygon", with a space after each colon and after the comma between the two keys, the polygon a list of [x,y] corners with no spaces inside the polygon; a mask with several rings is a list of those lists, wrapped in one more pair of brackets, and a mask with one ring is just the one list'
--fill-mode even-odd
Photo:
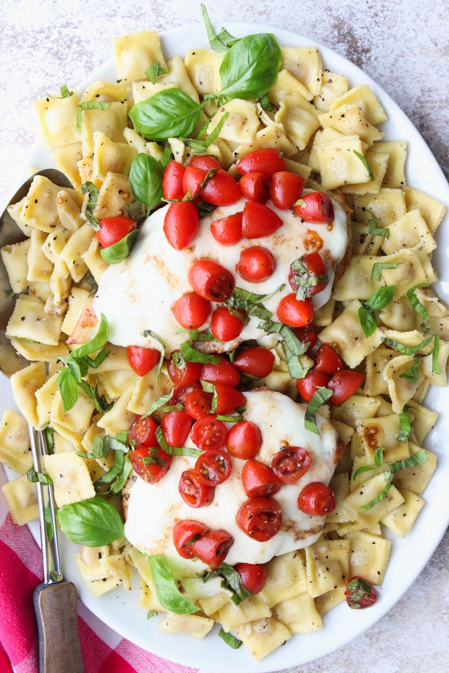
{"label": "large basil leaf beside the spoon handle, left of lower chicken", "polygon": [[104,546],[125,536],[118,511],[100,497],[64,505],[57,518],[66,538],[75,544]]}

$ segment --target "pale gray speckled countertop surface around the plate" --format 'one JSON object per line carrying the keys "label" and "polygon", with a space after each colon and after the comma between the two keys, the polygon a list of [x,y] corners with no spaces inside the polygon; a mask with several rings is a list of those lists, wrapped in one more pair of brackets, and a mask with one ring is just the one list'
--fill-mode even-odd
{"label": "pale gray speckled countertop surface around the plate", "polygon": [[[237,3],[235,3],[237,4]],[[326,44],[371,75],[405,110],[449,175],[448,28],[444,0],[250,0],[214,20],[266,23]],[[26,170],[36,123],[31,109],[42,85],[77,86],[110,58],[116,35],[165,30],[201,20],[192,0],[9,0],[0,16],[0,204]],[[445,75],[446,73],[446,75]],[[403,599],[369,633],[298,673],[409,673],[448,670],[446,535]]]}

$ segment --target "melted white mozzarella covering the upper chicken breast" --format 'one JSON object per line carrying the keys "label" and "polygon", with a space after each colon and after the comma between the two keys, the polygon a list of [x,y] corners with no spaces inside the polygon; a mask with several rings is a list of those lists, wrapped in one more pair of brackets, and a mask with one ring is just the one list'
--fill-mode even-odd
{"label": "melted white mozzarella covering the upper chicken breast", "polygon": [[[163,232],[164,217],[168,206],[159,209],[145,221],[135,242],[132,253],[120,264],[112,264],[102,275],[94,301],[98,317],[103,313],[109,322],[109,341],[119,346],[143,346],[161,349],[160,343],[151,336],[144,337],[144,330],[152,330],[166,345],[167,351],[179,348],[186,334],[172,313],[176,299],[191,291],[187,272],[193,262],[201,258],[213,259],[234,274],[236,285],[256,294],[269,294],[285,283],[283,291],[265,302],[266,308],[276,320],[279,300],[291,293],[288,274],[291,262],[310,252],[307,248],[308,232],[316,232],[322,239],[320,254],[326,265],[329,283],[322,292],[313,297],[315,308],[327,302],[331,295],[335,267],[345,254],[348,244],[346,215],[341,206],[333,202],[335,219],[332,225],[304,222],[293,211],[281,211],[271,201],[268,205],[283,220],[284,224],[271,236],[256,240],[242,240],[233,246],[222,246],[210,232],[213,221],[242,211],[245,199],[232,206],[218,207],[209,217],[199,222],[199,230],[189,248],[174,250]],[[309,234],[310,236],[310,234]],[[276,260],[276,268],[266,281],[248,283],[236,272],[240,253],[251,246],[268,248]],[[260,339],[265,335],[258,329],[259,318],[251,317],[240,340]],[[207,322],[203,328],[207,328]]]}

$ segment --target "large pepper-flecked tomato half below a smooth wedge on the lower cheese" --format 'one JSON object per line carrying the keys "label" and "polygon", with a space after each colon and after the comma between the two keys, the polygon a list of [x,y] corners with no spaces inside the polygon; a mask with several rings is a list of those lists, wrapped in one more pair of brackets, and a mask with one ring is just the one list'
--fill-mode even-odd
{"label": "large pepper-flecked tomato half below a smooth wedge on the lower cheese", "polygon": [[240,505],[236,521],[240,530],[252,540],[267,542],[281,528],[281,507],[272,498],[249,498]]}

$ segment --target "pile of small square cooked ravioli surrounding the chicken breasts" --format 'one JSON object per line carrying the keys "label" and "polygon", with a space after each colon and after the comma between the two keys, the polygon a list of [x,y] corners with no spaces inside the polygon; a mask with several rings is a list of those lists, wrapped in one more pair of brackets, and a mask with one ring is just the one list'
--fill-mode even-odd
{"label": "pile of small square cooked ravioli surrounding the chicken breasts", "polygon": [[[169,87],[197,103],[221,87],[219,53],[198,48],[184,59],[166,61],[155,31],[117,38],[114,55],[116,82],[96,81],[79,100],[76,92],[68,92],[35,104],[42,143],[74,188],[61,189],[36,176],[28,195],[9,208],[25,238],[1,250],[15,297],[7,336],[30,365],[11,377],[20,415],[3,414],[0,460],[24,475],[3,487],[13,521],[20,525],[38,516],[36,487],[26,476],[32,467],[27,423],[49,428],[53,452],[44,466],[61,508],[94,497],[94,483],[114,468],[114,450],[106,458],[93,457],[94,439],[127,431],[136,415],[147,412],[172,387],[165,365],[159,382],[154,370],[139,377],[126,349],[114,345],[86,379],[91,386],[98,381],[98,394],[114,402],[111,409],[99,413],[94,400],[79,390],[73,408],[64,411],[57,386],[61,357],[77,347],[67,345],[67,337],[108,267],[89,215],[98,220],[127,213],[132,217],[138,204],[129,186],[131,163],[137,153],[159,160],[164,149],[137,133],[129,110]],[[345,600],[349,577],[382,584],[392,544],[383,532],[387,528],[404,538],[411,530],[425,504],[422,494],[436,456],[425,450],[427,462],[395,471],[386,496],[370,509],[361,507],[382,493],[390,464],[421,450],[437,419],[422,402],[431,384],[446,386],[449,356],[449,310],[431,289],[437,281],[431,254],[444,205],[407,185],[407,143],[383,140],[378,125],[387,117],[368,85],[349,88],[343,75],[323,68],[316,48],[283,47],[281,59],[277,81],[263,105],[239,98],[222,106],[208,102],[193,135],[202,128],[210,135],[228,112],[207,153],[232,174],[236,161],[249,151],[273,147],[283,153],[287,170],[307,180],[307,187],[331,197],[345,195],[352,211],[353,254],[331,299],[316,311],[314,327],[318,339],[333,345],[345,365],[366,379],[347,402],[333,406],[332,412],[325,404],[318,411],[331,417],[346,447],[331,481],[337,509],[327,516],[320,539],[270,561],[265,588],[238,605],[223,590],[198,598],[201,594],[186,581],[185,595],[198,612],[168,612],[159,625],[166,633],[203,638],[217,622],[225,632],[233,631],[258,660],[292,634],[321,629],[324,614]],[[162,74],[152,83],[145,71],[154,63]],[[98,108],[92,102],[105,105]],[[192,149],[184,141],[172,138],[168,145],[185,164]],[[85,182],[99,190],[91,213],[90,195],[81,192]],[[395,286],[394,298],[365,336],[360,309],[386,285]],[[295,398],[285,357],[280,349],[275,355],[275,371],[262,384]],[[381,447],[384,451],[378,452]],[[89,456],[82,457],[86,452]],[[380,470],[357,472],[376,465]],[[112,495],[114,500],[119,507],[120,494]],[[95,596],[120,584],[130,590],[137,571],[139,606],[165,612],[147,559],[125,538],[83,546],[75,558]]]}

